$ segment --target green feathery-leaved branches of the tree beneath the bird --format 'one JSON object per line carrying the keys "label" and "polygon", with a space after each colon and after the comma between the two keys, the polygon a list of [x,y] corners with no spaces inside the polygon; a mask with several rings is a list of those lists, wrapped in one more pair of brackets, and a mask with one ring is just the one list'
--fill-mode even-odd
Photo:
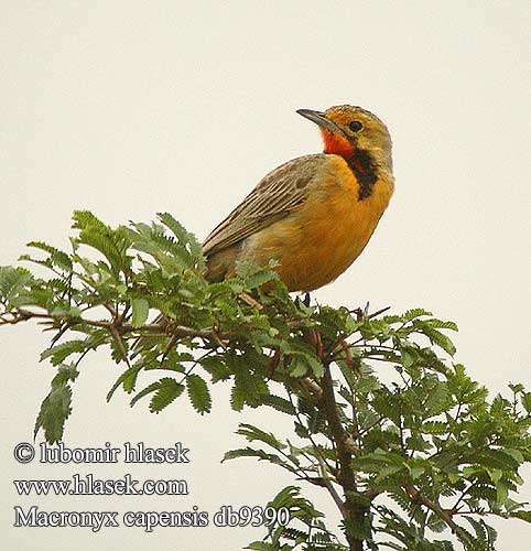
{"label": "green feathery-leaved branches of the tree beneath the bird", "polygon": [[489,517],[531,522],[518,501],[531,392],[512,383],[489,397],[453,360],[453,322],[422,309],[372,317],[308,306],[290,298],[274,263],[240,264],[212,283],[201,245],[169,214],[112,229],[76,212],[74,228],[69,252],[34,241],[37,257],[21,257],[48,278],[0,268],[0,325],[37,318],[52,329],[41,359],[55,375],[35,434],[63,437],[82,360],[108,347],[123,366],[108,400],[121,389],[159,413],[186,395],[206,414],[210,386],[227,382],[235,410],[267,407],[293,421],[290,437],[241,423],[247,444],[225,460],[267,461],[323,488],[344,534],[289,486],[270,505],[286,507],[290,522],[248,549],[490,550]]}

